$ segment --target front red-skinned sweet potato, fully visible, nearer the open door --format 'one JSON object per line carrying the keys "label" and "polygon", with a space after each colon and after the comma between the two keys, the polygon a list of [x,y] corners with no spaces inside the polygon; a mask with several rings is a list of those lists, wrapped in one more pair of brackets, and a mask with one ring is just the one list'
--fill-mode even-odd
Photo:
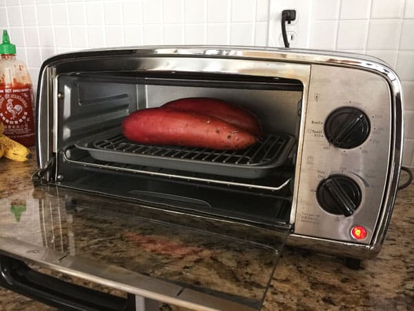
{"label": "front red-skinned sweet potato, fully visible, nearer the open door", "polygon": [[172,144],[219,150],[244,149],[257,138],[208,115],[173,109],[143,109],[122,122],[122,133],[142,144]]}

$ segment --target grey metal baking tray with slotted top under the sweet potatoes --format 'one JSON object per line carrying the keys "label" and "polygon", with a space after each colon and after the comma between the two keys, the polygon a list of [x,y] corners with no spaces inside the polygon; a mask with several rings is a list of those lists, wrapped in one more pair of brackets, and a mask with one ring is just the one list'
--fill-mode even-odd
{"label": "grey metal baking tray with slotted top under the sweet potatoes", "polygon": [[286,162],[294,143],[293,135],[272,133],[237,151],[138,144],[125,138],[119,127],[83,138],[75,146],[88,151],[92,158],[108,162],[237,178],[263,178]]}

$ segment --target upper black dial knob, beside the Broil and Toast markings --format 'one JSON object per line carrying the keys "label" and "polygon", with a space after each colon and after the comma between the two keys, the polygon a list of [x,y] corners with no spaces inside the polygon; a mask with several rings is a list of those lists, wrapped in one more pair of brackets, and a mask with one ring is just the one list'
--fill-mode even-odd
{"label": "upper black dial knob, beside the Broil and Toast markings", "polygon": [[339,148],[358,147],[368,138],[369,131],[368,117],[354,107],[342,107],[333,111],[325,122],[326,138]]}

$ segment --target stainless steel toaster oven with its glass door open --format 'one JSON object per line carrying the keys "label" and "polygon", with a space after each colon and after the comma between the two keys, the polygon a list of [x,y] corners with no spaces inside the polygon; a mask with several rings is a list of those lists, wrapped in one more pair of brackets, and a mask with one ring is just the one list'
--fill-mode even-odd
{"label": "stainless steel toaster oven with its glass door open", "polygon": [[[248,109],[264,135],[239,151],[138,144],[122,135],[130,113],[186,97]],[[41,67],[39,169],[32,179],[52,191],[42,198],[50,206],[63,196],[67,208],[59,207],[59,215],[86,205],[96,214],[133,211],[174,228],[166,238],[192,232],[220,243],[230,238],[225,243],[239,250],[260,245],[270,263],[260,267],[258,256],[257,271],[267,276],[285,241],[342,256],[355,268],[384,241],[402,135],[400,80],[366,55],[200,46],[88,50]],[[225,309],[223,301],[240,294],[210,288],[201,299],[203,286],[193,284],[191,295],[168,300],[163,290],[143,286],[135,294],[206,310]],[[217,292],[219,302],[208,300]],[[262,301],[264,292],[253,296]],[[241,295],[237,303],[249,305],[252,296]]]}

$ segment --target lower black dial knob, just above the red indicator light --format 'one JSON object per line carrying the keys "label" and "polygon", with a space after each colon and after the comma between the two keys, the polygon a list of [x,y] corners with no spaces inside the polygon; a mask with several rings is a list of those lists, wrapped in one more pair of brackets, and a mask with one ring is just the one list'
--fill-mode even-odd
{"label": "lower black dial knob, just above the red indicator light", "polygon": [[351,216],[361,203],[361,189],[349,177],[332,175],[319,183],[316,191],[319,205],[328,213]]}

